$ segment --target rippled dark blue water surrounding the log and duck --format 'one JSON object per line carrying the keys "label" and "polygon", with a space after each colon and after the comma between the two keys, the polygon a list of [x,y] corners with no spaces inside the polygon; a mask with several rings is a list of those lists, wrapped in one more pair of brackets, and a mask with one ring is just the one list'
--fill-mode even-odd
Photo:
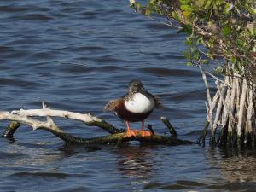
{"label": "rippled dark blue water surrounding the log and duck", "polygon": [[[0,2],[1,110],[51,108],[90,112],[125,125],[103,106],[141,79],[165,108],[147,123],[160,134],[166,115],[180,138],[204,125],[201,74],[186,67],[183,34],[135,14],[126,0]],[[107,134],[55,119],[79,137]],[[7,122],[2,122],[1,130]],[[139,124],[132,124],[138,127]],[[15,142],[0,138],[0,191],[253,191],[255,154],[200,146],[65,145],[22,125]]]}

